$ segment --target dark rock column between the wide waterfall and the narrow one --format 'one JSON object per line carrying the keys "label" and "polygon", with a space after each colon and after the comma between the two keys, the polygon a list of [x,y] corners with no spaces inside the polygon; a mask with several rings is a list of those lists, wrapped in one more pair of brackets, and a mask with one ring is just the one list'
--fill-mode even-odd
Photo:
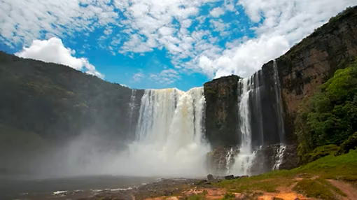
{"label": "dark rock column between the wide waterfall and the narrow one", "polygon": [[238,129],[238,76],[226,76],[204,83],[206,136],[212,147],[231,146],[240,141]]}

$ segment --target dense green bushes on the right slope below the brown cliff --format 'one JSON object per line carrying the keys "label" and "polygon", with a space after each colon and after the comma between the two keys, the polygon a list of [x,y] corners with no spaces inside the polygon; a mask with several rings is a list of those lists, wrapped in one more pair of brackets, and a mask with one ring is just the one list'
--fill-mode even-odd
{"label": "dense green bushes on the right slope below the brown cliff", "polygon": [[[300,105],[295,120],[300,162],[328,155],[336,150],[332,145],[341,145],[356,131],[357,62],[351,62]],[[329,146],[316,150],[325,145]]]}

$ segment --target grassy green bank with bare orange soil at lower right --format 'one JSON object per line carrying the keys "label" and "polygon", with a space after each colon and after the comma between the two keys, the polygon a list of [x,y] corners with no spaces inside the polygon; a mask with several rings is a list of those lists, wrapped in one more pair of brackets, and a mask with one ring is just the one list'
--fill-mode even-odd
{"label": "grassy green bank with bare orange soil at lower right", "polygon": [[[271,171],[260,176],[235,180],[223,180],[216,186],[228,192],[279,192],[279,188],[289,188],[306,197],[338,199],[345,196],[339,188],[328,180],[343,180],[357,185],[357,150],[335,157],[328,155],[314,162],[292,170]],[[357,190],[357,188],[356,188]]]}

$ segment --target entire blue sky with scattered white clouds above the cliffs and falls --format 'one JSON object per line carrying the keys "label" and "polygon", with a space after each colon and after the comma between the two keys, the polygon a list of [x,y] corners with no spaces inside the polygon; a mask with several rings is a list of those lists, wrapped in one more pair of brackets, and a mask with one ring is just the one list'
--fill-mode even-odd
{"label": "entire blue sky with scattered white clouds above the cliffs and falls", "polygon": [[0,50],[135,88],[188,90],[262,64],[357,0],[0,0]]}

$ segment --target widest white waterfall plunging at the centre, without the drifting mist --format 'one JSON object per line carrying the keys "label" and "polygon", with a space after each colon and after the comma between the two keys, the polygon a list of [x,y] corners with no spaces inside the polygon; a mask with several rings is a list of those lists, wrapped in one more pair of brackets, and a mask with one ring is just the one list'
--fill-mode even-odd
{"label": "widest white waterfall plunging at the centre, without the drifting mist", "polygon": [[130,144],[121,173],[137,176],[206,176],[204,90],[146,90],[141,99],[137,139]]}

